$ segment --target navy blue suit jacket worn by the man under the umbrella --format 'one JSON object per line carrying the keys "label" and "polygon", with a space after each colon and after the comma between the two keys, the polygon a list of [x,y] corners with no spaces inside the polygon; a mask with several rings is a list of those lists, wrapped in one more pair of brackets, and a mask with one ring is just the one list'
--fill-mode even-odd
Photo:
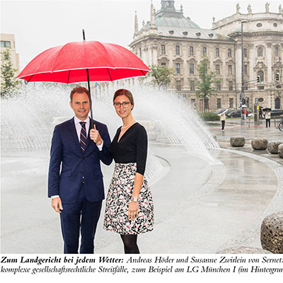
{"label": "navy blue suit jacket worn by the man under the umbrella", "polygon": [[54,128],[50,151],[48,174],[48,197],[59,195],[62,203],[73,203],[79,200],[79,189],[84,177],[86,199],[90,202],[103,200],[103,174],[100,161],[106,165],[112,162],[110,154],[110,137],[106,125],[93,120],[100,137],[103,149],[99,151],[89,138],[83,152],[76,133],[74,118]]}

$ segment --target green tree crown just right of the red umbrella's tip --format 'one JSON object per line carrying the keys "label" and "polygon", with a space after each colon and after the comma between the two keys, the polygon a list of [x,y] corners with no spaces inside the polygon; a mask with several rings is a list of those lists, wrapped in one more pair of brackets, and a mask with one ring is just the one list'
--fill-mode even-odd
{"label": "green tree crown just right of the red umbrella's tip", "polygon": [[167,66],[157,66],[152,65],[150,67],[148,76],[153,78],[153,83],[158,86],[158,88],[166,88],[171,82],[171,75],[173,74],[173,69]]}

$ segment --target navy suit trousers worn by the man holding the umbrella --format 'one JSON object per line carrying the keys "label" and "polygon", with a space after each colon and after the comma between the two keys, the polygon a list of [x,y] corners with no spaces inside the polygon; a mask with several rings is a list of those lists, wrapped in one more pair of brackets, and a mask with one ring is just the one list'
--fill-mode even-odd
{"label": "navy suit trousers worn by the man holding the umbrella", "polygon": [[78,253],[79,231],[81,227],[80,253],[94,253],[94,236],[100,216],[102,200],[89,202],[86,200],[84,185],[80,187],[78,202],[62,204],[60,214],[64,253]]}

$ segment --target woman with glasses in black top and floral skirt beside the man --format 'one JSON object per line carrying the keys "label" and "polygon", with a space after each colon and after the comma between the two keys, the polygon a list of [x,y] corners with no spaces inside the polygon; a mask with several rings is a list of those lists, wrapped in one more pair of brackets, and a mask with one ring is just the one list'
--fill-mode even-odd
{"label": "woman with glasses in black top and floral skirt beside the man", "polygon": [[110,150],[115,170],[108,190],[103,228],[120,233],[125,253],[139,253],[137,235],[153,229],[154,204],[144,178],[147,155],[146,130],[132,116],[134,99],[126,89],[113,97],[122,127]]}

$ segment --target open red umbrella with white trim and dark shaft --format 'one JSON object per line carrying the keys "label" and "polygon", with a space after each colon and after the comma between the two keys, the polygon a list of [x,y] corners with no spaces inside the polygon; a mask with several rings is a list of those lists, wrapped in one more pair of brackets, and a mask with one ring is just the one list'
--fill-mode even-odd
{"label": "open red umbrella with white trim and dark shaft", "polygon": [[145,76],[148,71],[150,69],[144,62],[125,47],[83,40],[45,50],[28,63],[17,78],[27,82],[80,83],[87,81],[91,100],[89,81],[116,81],[134,76]]}

